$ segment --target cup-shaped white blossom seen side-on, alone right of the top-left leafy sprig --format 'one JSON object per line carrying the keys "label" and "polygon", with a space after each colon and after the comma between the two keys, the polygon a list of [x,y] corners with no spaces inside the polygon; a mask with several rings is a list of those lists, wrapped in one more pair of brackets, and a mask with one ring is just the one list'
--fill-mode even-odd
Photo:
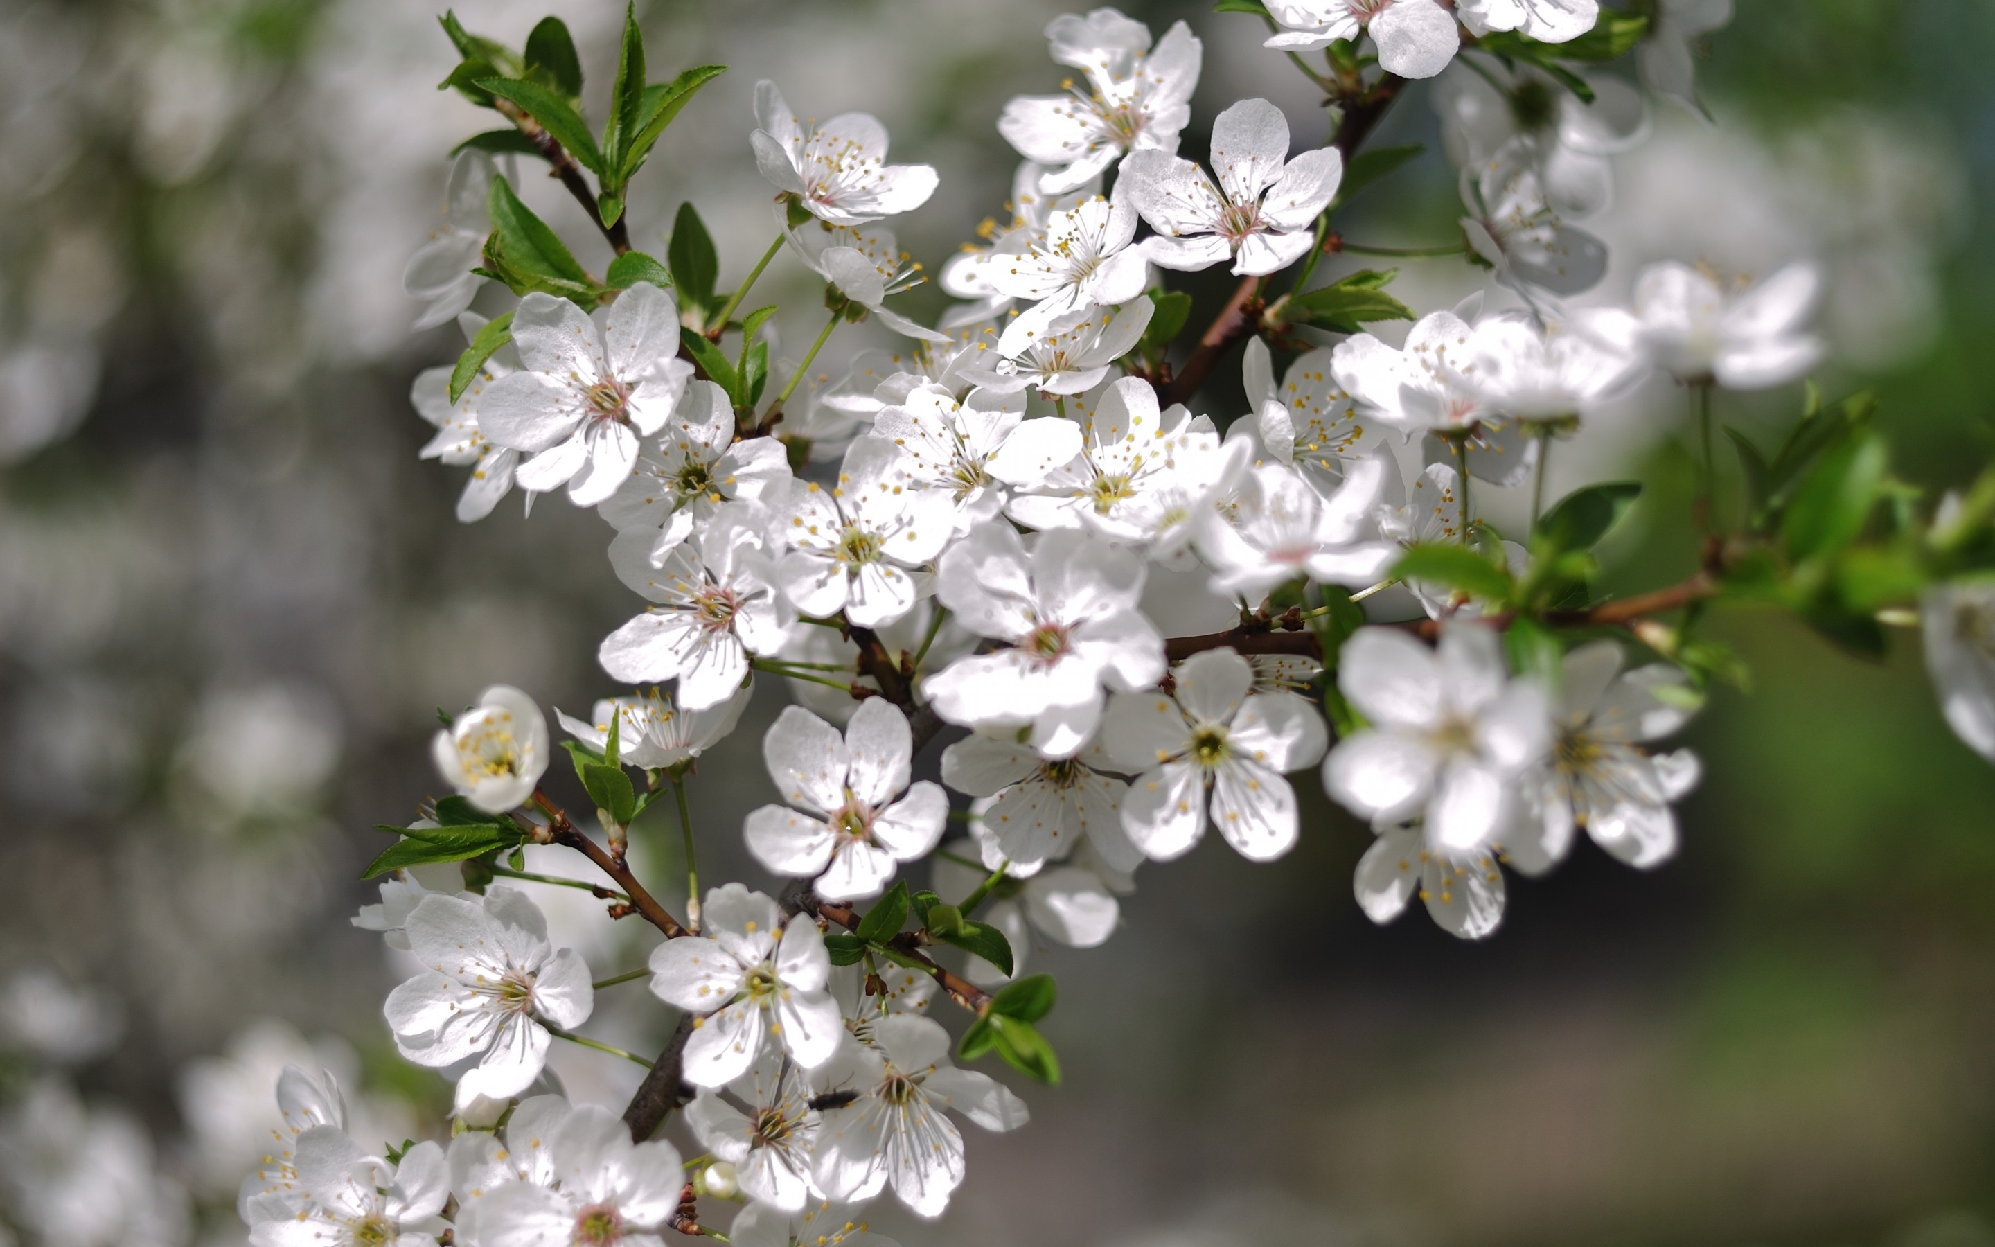
{"label": "cup-shaped white blossom seen side-on, alone right of the top-left leafy sprig", "polygon": [[886,164],[886,126],[864,112],[804,122],[784,104],[774,82],[754,84],[756,168],[822,221],[860,225],[914,211],[936,194],[936,170],[926,164]]}

